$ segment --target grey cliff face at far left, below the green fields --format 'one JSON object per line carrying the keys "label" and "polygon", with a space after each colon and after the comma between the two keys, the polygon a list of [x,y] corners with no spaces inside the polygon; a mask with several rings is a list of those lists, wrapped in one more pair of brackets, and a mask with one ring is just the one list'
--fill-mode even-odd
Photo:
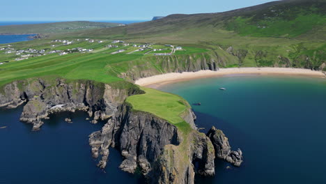
{"label": "grey cliff face at far left, below the green fields", "polygon": [[95,114],[95,119],[109,118],[128,95],[137,93],[143,91],[134,85],[118,88],[82,80],[28,79],[4,86],[0,92],[0,107],[17,107],[26,102],[20,121],[32,123],[33,130],[39,130],[42,118],[54,112],[88,110],[90,116]]}

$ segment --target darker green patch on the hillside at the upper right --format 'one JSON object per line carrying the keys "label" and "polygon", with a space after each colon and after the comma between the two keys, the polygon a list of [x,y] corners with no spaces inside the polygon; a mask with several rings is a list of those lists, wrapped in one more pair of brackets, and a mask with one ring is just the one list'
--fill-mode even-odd
{"label": "darker green patch on the hillside at the upper right", "polygon": [[240,33],[241,36],[288,38],[295,38],[312,29],[323,29],[326,24],[325,1],[289,2],[263,8],[255,14],[233,17],[227,22],[226,28]]}

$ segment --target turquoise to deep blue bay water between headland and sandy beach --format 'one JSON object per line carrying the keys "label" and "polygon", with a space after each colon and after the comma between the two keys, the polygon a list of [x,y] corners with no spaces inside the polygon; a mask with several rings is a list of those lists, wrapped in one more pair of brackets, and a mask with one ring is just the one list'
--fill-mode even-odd
{"label": "turquoise to deep blue bay water between headland and sandy beach", "polygon": [[196,183],[326,183],[326,79],[235,75],[160,89],[201,102],[198,127],[215,125],[244,152],[242,167],[217,162]]}

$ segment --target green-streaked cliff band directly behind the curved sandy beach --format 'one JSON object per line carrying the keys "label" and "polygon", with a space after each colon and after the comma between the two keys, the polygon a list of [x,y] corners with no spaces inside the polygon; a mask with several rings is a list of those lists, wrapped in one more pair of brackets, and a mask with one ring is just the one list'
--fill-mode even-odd
{"label": "green-streaked cliff band directly behind the curved sandy beach", "polygon": [[[212,45],[212,47],[216,47],[216,45]],[[259,47],[235,48],[221,45],[218,49],[211,49],[203,53],[148,56],[140,60],[116,63],[111,67],[114,68],[113,71],[121,71],[121,65],[123,68],[128,68],[123,72],[114,72],[114,75],[130,82],[169,72],[196,72],[231,67],[284,67],[325,71],[324,52],[320,50],[316,53],[316,56],[305,55],[301,52],[281,54]]]}

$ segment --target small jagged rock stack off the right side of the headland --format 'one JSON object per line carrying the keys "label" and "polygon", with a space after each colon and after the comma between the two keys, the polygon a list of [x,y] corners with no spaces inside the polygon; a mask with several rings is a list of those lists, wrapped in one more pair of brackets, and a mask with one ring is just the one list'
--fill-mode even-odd
{"label": "small jagged rock stack off the right side of the headland", "polygon": [[224,135],[222,130],[216,129],[214,126],[208,131],[207,136],[212,141],[215,148],[216,158],[226,160],[236,167],[240,167],[242,163],[242,151],[231,151],[231,146],[228,143],[228,138]]}

